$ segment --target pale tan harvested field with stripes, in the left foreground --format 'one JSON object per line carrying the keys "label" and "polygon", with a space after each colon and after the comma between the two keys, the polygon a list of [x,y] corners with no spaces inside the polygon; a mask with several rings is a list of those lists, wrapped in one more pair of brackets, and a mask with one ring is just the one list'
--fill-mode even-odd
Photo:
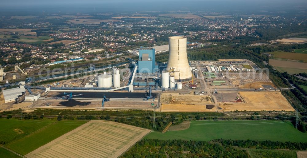
{"label": "pale tan harvested field with stripes, in the left foreground", "polygon": [[118,157],[149,132],[127,124],[91,120],[25,156]]}

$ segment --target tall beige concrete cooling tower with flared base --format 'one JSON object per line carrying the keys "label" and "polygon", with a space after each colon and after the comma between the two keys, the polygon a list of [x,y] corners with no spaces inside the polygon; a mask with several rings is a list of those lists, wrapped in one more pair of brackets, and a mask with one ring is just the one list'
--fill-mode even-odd
{"label": "tall beige concrete cooling tower with flared base", "polygon": [[169,61],[166,70],[174,71],[170,75],[175,77],[176,82],[192,80],[192,73],[187,57],[187,38],[181,36],[169,37]]}

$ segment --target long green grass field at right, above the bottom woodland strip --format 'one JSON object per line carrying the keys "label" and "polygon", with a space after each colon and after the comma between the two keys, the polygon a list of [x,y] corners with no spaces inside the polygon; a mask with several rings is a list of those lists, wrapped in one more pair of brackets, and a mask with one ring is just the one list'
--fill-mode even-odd
{"label": "long green grass field at right, above the bottom woodland strip", "polygon": [[307,133],[295,129],[290,122],[278,120],[191,121],[190,128],[165,133],[151,132],[144,139],[182,140],[272,140],[307,142]]}

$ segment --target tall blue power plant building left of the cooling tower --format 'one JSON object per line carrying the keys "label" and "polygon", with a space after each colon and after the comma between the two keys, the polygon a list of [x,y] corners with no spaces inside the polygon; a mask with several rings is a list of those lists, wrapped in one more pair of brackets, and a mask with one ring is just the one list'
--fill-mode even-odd
{"label": "tall blue power plant building left of the cooling tower", "polygon": [[140,48],[138,58],[138,73],[155,73],[155,49]]}

